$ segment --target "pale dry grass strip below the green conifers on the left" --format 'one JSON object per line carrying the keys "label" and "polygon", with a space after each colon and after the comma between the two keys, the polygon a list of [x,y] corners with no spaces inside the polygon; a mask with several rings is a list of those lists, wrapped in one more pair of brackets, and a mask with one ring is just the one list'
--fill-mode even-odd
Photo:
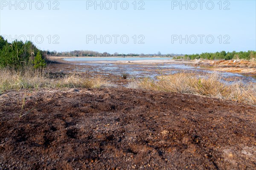
{"label": "pale dry grass strip below the green conifers on the left", "polygon": [[107,80],[100,77],[89,79],[68,74],[63,77],[51,78],[45,71],[26,69],[15,71],[0,69],[0,93],[9,89],[22,88],[102,88],[113,87]]}

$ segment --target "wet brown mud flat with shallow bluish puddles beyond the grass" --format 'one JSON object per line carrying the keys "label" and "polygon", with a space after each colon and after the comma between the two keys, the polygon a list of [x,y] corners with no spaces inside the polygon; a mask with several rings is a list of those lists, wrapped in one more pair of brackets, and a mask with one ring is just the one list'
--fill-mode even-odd
{"label": "wet brown mud flat with shallow bluish puddles beyond the grass", "polygon": [[[128,79],[137,79],[149,77],[157,79],[159,76],[176,74],[176,73],[193,73],[199,76],[207,76],[209,74],[218,74],[221,79],[227,83],[241,81],[244,83],[256,83],[255,74],[230,73],[222,71],[223,69],[213,68],[212,66],[197,65],[194,62],[174,62],[174,63],[137,63],[131,62],[67,62],[60,60],[58,64],[51,64],[49,68],[52,71],[63,71],[66,73],[82,73],[90,77],[106,77],[113,82],[122,82],[120,77],[127,74]],[[126,81],[124,81],[126,84]]]}

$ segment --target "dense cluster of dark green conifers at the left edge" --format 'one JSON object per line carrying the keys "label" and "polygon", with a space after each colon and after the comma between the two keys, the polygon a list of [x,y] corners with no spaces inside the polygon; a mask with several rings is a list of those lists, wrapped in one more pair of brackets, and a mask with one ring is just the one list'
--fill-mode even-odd
{"label": "dense cluster of dark green conifers at the left edge", "polygon": [[40,51],[31,41],[4,40],[0,36],[0,68],[19,69],[25,65],[33,65],[35,68],[46,66],[43,51]]}

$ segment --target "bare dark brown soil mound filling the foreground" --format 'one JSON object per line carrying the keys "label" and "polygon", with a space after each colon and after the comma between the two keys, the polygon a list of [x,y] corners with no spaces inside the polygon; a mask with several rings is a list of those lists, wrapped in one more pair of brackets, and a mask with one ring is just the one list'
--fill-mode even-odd
{"label": "bare dark brown soil mound filling the foreground", "polygon": [[253,170],[256,107],[130,89],[1,95],[0,169],[44,168]]}

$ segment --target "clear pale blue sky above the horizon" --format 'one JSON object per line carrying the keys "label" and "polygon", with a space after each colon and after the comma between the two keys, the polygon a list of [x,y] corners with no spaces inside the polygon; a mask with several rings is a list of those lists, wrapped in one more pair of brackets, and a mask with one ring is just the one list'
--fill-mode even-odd
{"label": "clear pale blue sky above the horizon", "polygon": [[[222,50],[256,50],[256,1],[223,0],[221,10],[219,1],[211,1],[214,4],[212,10],[207,9],[211,8],[212,4],[207,0],[202,3],[202,9],[197,0],[193,1],[197,5],[195,10],[192,10],[195,7],[192,1],[182,1],[188,4],[186,10],[186,6],[181,6],[182,9],[180,9],[180,1],[144,0],[137,1],[136,10],[134,10],[134,0],[127,0],[129,7],[124,10],[121,8],[121,2],[123,8],[126,7],[126,2],[119,0],[115,10],[115,3],[110,0],[112,5],[110,10],[104,8],[105,1],[102,1],[102,10],[99,6],[95,10],[94,0],[58,0],[51,1],[49,10],[49,0],[44,0],[42,1],[43,9],[38,10],[41,3],[37,3],[36,8],[35,3],[38,1],[34,0],[30,10],[29,3],[25,0],[23,2],[26,3],[26,8],[21,10],[24,5],[17,1],[16,10],[15,6],[10,6],[9,0],[1,0],[0,34],[10,35],[12,38],[15,35],[17,37],[25,35],[27,40],[28,35],[34,35],[33,42],[35,42],[35,36],[41,35],[44,41],[41,44],[35,42],[35,45],[42,50],[51,51],[93,50],[138,54],[154,54],[160,51],[162,54],[192,54]],[[97,2],[100,3],[99,0]],[[15,1],[12,3],[15,4]],[[92,3],[93,6],[89,6]],[[52,10],[56,5],[59,9]],[[105,5],[106,8],[109,7],[109,3]],[[141,5],[144,10],[138,10]],[[225,6],[230,9],[224,10]],[[51,35],[50,43],[49,35]],[[53,37],[54,35],[57,36]],[[87,40],[88,35],[97,37],[102,35],[102,39],[105,35],[110,35],[112,42],[107,44],[103,41],[101,44],[100,40],[97,40],[95,43],[94,40]],[[119,35],[116,43],[113,35]],[[121,42],[122,35],[127,35],[129,38],[127,44]],[[137,37],[135,44],[134,35]],[[139,37],[139,35],[143,36]],[[185,39],[186,35],[188,36],[187,44],[186,40],[182,40],[181,43],[179,40],[174,40],[174,38],[180,38],[180,35]],[[202,43],[198,35],[204,35]],[[189,36],[191,36],[190,41]],[[144,44],[139,44],[138,41],[143,37],[145,37],[142,41]],[[197,42],[193,44],[195,37]],[[211,37],[214,41],[210,44]],[[106,38],[105,40],[109,41],[108,37]],[[53,40],[59,43],[54,44]],[[225,40],[229,44],[224,43]],[[40,41],[39,36],[38,42]]]}

